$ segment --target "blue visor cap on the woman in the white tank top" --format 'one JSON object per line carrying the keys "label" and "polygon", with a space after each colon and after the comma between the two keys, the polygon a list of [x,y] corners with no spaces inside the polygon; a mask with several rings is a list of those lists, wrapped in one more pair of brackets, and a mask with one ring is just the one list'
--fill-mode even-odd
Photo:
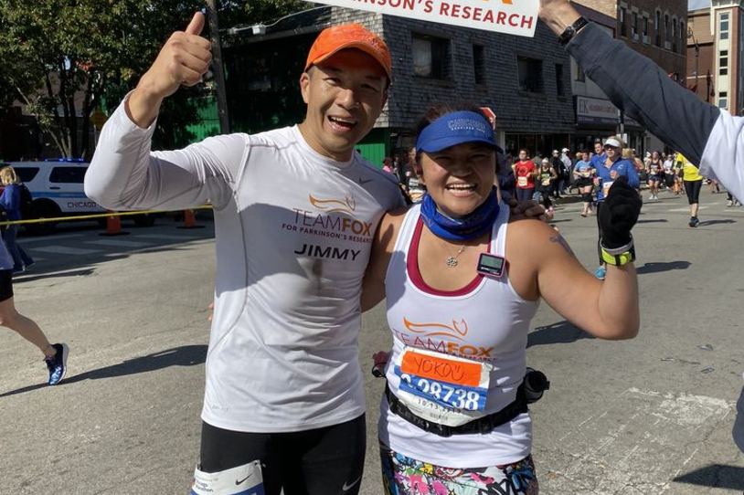
{"label": "blue visor cap on the woman in the white tank top", "polygon": [[453,111],[431,122],[420,132],[416,151],[437,153],[464,142],[483,142],[502,151],[491,123],[474,111]]}

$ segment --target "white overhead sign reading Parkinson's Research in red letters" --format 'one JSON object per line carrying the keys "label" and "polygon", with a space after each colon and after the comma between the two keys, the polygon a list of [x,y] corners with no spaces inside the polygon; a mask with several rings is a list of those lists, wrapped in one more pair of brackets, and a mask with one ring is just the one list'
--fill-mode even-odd
{"label": "white overhead sign reading Parkinson's Research in red letters", "polygon": [[408,17],[422,21],[473,27],[497,33],[533,37],[539,0],[309,0]]}

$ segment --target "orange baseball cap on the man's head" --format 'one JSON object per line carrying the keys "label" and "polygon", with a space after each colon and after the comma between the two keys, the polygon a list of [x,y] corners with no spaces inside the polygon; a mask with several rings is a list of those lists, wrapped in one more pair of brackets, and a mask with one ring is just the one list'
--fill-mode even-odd
{"label": "orange baseball cap on the man's head", "polygon": [[376,34],[367,30],[361,24],[345,24],[342,26],[331,26],[318,35],[317,39],[310,47],[310,53],[307,54],[307,63],[305,70],[313,64],[324,61],[336,52],[346,49],[356,48],[375,58],[379,65],[385,69],[388,79],[391,77],[390,51],[388,45]]}

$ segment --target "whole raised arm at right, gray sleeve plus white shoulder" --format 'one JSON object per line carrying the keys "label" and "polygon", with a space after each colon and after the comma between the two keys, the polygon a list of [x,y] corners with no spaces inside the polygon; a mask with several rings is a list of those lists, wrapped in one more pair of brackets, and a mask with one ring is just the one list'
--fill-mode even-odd
{"label": "whole raised arm at right, gray sleeve plus white shoulder", "polygon": [[701,101],[654,62],[590,24],[569,54],[619,109],[744,198],[744,119]]}

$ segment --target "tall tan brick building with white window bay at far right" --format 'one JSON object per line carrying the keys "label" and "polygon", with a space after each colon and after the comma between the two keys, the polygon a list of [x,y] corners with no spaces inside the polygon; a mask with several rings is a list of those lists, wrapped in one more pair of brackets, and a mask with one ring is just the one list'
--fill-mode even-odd
{"label": "tall tan brick building with white window bay at far right", "polygon": [[690,11],[689,26],[687,86],[701,100],[744,115],[744,3],[713,0],[710,8]]}

